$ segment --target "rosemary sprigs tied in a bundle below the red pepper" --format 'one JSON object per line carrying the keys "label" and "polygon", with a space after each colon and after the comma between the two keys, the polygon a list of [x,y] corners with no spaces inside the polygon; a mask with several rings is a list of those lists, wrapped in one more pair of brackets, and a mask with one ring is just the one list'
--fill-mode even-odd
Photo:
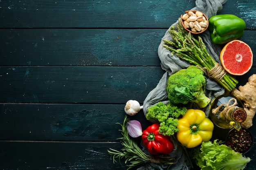
{"label": "rosemary sprigs tied in a bundle below the red pepper", "polygon": [[123,137],[120,137],[118,139],[121,139],[121,144],[123,145],[123,148],[121,149],[121,151],[112,148],[108,150],[110,157],[113,159],[113,163],[117,162],[115,159],[118,158],[119,163],[121,164],[121,159],[124,158],[126,164],[130,162],[130,164],[126,165],[128,166],[127,170],[135,166],[152,162],[163,163],[167,165],[172,165],[174,163],[175,159],[169,157],[168,155],[157,155],[153,157],[144,153],[137,145],[137,143],[129,137],[128,130],[126,128],[128,121],[129,119],[127,118],[127,116],[125,116],[123,124],[117,123],[121,125],[121,130],[119,131],[121,131]]}

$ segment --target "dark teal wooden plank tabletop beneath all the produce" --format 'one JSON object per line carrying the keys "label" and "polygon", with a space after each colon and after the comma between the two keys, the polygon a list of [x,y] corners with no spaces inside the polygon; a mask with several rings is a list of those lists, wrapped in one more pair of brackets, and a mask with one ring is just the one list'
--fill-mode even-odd
{"label": "dark teal wooden plank tabletop beneath all the produce", "polygon": [[[256,54],[256,0],[228,0],[220,13],[245,20]],[[124,105],[143,103],[164,74],[157,48],[195,1],[0,0],[0,169],[124,170]],[[256,73],[238,77],[239,85]],[[134,119],[144,126],[140,111]],[[249,130],[256,139],[256,119]],[[256,144],[247,154],[255,169]]]}

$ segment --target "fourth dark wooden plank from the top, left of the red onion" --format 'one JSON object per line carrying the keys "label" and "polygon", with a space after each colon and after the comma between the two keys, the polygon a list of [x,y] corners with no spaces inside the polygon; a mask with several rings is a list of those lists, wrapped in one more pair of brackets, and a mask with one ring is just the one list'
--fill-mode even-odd
{"label": "fourth dark wooden plank from the top, left of the red onion", "polygon": [[[117,142],[125,104],[2,104],[0,141]],[[150,125],[143,111],[131,119]],[[21,128],[22,127],[22,128]]]}

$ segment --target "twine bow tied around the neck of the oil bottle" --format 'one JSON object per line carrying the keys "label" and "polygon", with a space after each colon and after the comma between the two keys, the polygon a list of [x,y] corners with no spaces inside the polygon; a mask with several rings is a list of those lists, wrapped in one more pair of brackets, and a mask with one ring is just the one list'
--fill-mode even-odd
{"label": "twine bow tied around the neck of the oil bottle", "polygon": [[[230,103],[231,102],[234,102],[232,105],[230,105]],[[231,98],[231,99],[229,99],[229,102],[228,103],[223,103],[223,104],[221,104],[221,105],[219,105],[217,108],[215,108],[215,109],[212,109],[212,113],[214,114],[214,115],[219,115],[220,117],[224,117],[224,118],[226,118],[226,119],[228,119],[228,120],[232,120],[232,118],[231,118],[231,115],[229,114],[229,111],[231,111],[232,109],[234,109],[234,107],[236,106],[236,104],[237,104],[237,100],[236,100],[236,98]],[[219,112],[219,110],[220,110],[220,108],[221,107],[223,107],[223,106],[226,106],[222,111],[220,111],[220,113],[218,113]]]}

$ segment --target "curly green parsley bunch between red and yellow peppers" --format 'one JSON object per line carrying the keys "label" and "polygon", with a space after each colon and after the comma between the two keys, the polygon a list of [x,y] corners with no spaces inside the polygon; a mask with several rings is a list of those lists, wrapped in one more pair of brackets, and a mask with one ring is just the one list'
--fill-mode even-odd
{"label": "curly green parsley bunch between red and yellow peppers", "polygon": [[147,120],[159,122],[159,133],[171,136],[179,131],[177,128],[178,118],[185,115],[186,111],[187,109],[184,105],[174,105],[171,103],[165,105],[163,102],[158,102],[148,109],[146,118]]}

